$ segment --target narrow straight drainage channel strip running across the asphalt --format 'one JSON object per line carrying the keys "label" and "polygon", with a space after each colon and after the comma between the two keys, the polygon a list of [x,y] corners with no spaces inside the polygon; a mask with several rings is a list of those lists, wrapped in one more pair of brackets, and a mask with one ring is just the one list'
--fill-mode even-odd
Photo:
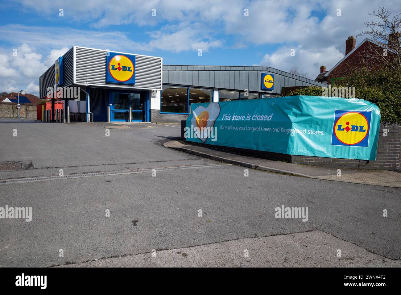
{"label": "narrow straight drainage channel strip running across the asphalt", "polygon": [[209,168],[209,167],[228,166],[228,165],[231,165],[231,164],[225,164],[225,163],[198,164],[198,165],[182,165],[182,166],[171,166],[171,167],[146,168],[146,169],[136,169],[136,170],[120,170],[120,171],[110,171],[110,172],[65,174],[64,176],[58,176],[58,175],[57,176],[35,176],[35,177],[26,177],[26,178],[3,179],[3,180],[0,180],[0,184],[26,183],[26,182],[34,182],[34,181],[60,180],[60,179],[70,179],[70,178],[109,176],[109,175],[122,175],[122,174],[137,174],[137,173],[152,172],[153,169],[155,169],[156,171],[168,171],[168,170],[177,170],[177,169]]}

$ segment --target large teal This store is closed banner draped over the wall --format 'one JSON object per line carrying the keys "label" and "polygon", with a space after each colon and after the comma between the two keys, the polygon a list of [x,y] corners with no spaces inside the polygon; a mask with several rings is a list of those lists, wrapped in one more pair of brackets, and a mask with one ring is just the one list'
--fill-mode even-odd
{"label": "large teal This store is closed banner draped over the wall", "polygon": [[286,96],[191,104],[188,141],[288,155],[375,160],[379,108],[357,98]]}

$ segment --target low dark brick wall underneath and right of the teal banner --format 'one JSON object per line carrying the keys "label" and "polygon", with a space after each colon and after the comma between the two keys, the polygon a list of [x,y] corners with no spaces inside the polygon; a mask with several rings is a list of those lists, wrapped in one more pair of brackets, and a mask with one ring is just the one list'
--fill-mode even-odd
{"label": "low dark brick wall underneath and right of the teal banner", "polygon": [[[182,140],[185,140],[184,128],[185,120],[182,120]],[[387,130],[387,136],[384,136],[384,129]],[[221,148],[227,149],[227,147],[223,146]],[[230,150],[239,151],[241,153],[251,153],[253,155],[256,155],[257,157],[276,161],[286,161],[293,164],[350,169],[395,169],[401,167],[401,124],[380,124],[379,141],[377,143],[377,154],[375,161],[286,155],[235,148],[230,148]]]}

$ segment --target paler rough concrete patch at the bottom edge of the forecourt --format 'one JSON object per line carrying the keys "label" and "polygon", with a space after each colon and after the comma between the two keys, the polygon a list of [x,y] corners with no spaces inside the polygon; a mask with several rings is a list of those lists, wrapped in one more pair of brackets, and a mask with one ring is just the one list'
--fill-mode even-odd
{"label": "paler rough concrete patch at the bottom edge of the forecourt", "polygon": [[401,261],[315,230],[156,250],[156,256],[150,251],[117,258],[99,257],[59,267],[401,267]]}

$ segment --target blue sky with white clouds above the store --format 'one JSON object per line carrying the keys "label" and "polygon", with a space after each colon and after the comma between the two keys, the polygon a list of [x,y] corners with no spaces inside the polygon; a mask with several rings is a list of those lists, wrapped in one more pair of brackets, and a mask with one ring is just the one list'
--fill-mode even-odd
{"label": "blue sky with white clouds above the store", "polygon": [[38,94],[39,76],[73,45],[164,64],[296,66],[314,79],[320,65],[330,69],[344,56],[347,37],[365,29],[379,4],[401,10],[397,0],[2,1],[0,92]]}

